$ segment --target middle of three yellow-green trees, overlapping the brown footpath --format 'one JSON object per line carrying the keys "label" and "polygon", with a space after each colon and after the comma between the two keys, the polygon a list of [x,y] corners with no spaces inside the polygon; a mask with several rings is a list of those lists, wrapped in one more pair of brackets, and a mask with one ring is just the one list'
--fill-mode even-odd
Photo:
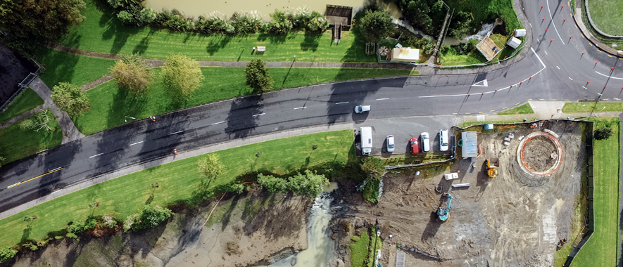
{"label": "middle of three yellow-green trees, overlapping the brown footpath", "polygon": [[153,72],[139,54],[122,55],[111,67],[113,78],[122,89],[132,93],[144,93],[153,80]]}

